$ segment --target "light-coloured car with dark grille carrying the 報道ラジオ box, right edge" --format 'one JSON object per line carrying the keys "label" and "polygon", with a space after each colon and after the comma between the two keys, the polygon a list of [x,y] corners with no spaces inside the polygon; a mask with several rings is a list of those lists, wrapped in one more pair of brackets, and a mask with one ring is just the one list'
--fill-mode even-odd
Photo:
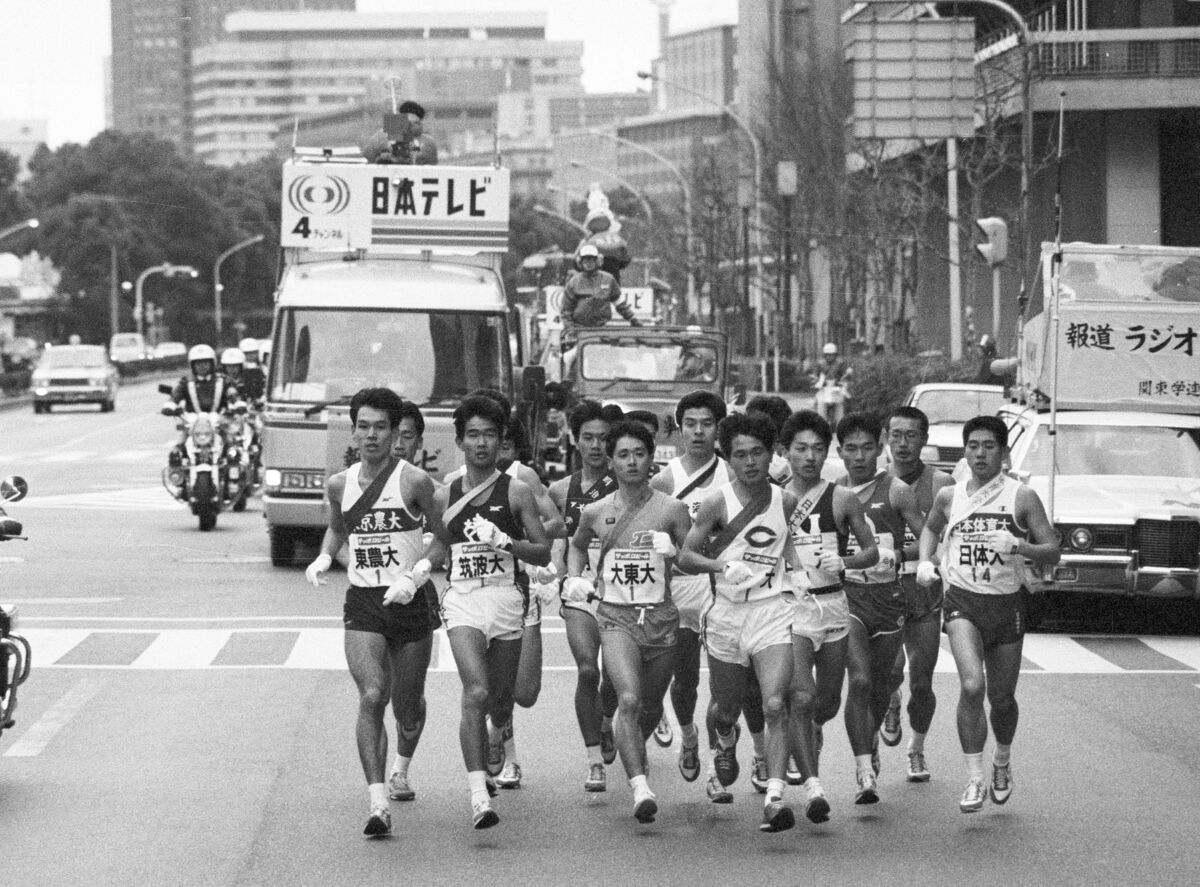
{"label": "light-coloured car with dark grille carrying the \u5831\u9053\u30e9\u30b8\u30aa box, right edge", "polygon": [[[1050,414],[1006,406],[1012,474],[1045,504]],[[1045,591],[1194,598],[1200,591],[1200,415],[1109,410],[1057,414],[1051,522],[1062,561]]]}

